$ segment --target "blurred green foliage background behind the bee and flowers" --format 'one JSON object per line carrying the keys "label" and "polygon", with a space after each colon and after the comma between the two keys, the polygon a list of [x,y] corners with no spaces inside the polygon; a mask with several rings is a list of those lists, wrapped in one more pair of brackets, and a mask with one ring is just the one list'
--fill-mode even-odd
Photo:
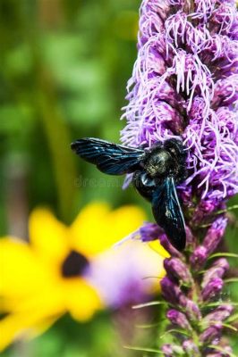
{"label": "blurred green foliage background behind the bee and flowers", "polygon": [[[131,187],[123,192],[123,179],[108,185],[85,181],[100,183],[105,177],[70,150],[78,137],[119,141],[126,81],[136,58],[139,6],[140,0],[0,1],[1,237],[27,239],[29,214],[39,205],[50,207],[65,224],[93,200],[113,208],[134,203],[151,217],[148,203]],[[230,205],[235,203],[234,198]],[[227,247],[238,253],[238,223],[230,214]],[[230,262],[236,274],[237,260]],[[225,295],[238,300],[235,282]],[[157,345],[158,330],[165,325],[163,308],[147,311],[153,326],[133,328],[128,340],[131,314],[129,307],[102,311],[84,324],[66,315],[45,334],[18,342],[1,356],[146,356],[126,352],[123,345],[134,339]],[[235,334],[233,345],[238,353]]]}

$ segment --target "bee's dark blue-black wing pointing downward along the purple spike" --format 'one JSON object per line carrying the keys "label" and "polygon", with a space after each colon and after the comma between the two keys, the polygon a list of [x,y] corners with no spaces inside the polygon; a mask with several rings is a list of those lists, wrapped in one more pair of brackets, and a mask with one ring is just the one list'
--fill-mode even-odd
{"label": "bee's dark blue-black wing pointing downward along the purple spike", "polygon": [[166,178],[155,190],[152,212],[157,224],[165,229],[170,243],[178,251],[183,251],[186,245],[185,222],[172,177]]}

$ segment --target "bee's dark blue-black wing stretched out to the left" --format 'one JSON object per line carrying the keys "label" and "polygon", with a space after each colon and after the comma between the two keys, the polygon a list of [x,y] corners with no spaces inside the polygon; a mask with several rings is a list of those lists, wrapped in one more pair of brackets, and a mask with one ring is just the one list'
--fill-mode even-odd
{"label": "bee's dark blue-black wing stretched out to the left", "polygon": [[87,162],[109,175],[123,175],[141,169],[145,152],[141,149],[109,143],[94,137],[76,140],[72,150]]}

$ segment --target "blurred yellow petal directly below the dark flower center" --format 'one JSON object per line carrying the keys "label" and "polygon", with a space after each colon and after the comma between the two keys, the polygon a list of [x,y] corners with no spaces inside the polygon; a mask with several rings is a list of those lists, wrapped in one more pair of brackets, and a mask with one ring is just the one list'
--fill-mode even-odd
{"label": "blurred yellow petal directly below the dark flower center", "polygon": [[82,278],[69,278],[62,288],[66,310],[75,320],[89,320],[102,307],[96,290]]}

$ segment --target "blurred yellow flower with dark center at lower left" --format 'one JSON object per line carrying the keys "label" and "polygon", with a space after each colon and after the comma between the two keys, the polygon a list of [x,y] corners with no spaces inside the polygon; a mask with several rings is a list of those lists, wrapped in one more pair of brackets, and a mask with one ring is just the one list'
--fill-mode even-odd
{"label": "blurred yellow flower with dark center at lower left", "polygon": [[30,215],[30,244],[1,239],[0,350],[20,335],[48,328],[67,311],[89,320],[103,303],[82,272],[144,219],[134,206],[111,212],[106,203],[91,203],[65,227],[52,212],[37,209]]}

